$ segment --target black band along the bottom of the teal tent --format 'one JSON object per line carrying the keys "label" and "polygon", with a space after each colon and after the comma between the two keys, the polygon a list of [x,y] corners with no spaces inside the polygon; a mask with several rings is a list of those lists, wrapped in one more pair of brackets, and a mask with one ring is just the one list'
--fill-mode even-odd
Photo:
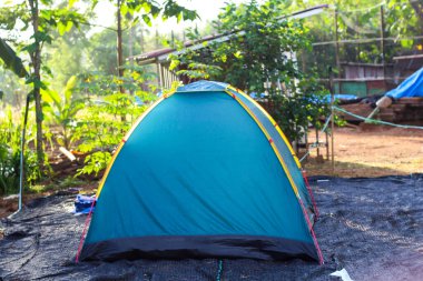
{"label": "black band along the bottom of the teal tent", "polygon": [[313,243],[254,235],[136,237],[85,244],[80,260],[248,258],[318,260]]}

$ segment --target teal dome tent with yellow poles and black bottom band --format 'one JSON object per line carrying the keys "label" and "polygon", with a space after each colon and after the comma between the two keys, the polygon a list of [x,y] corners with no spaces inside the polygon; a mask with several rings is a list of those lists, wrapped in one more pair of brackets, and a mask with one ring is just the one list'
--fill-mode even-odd
{"label": "teal dome tent with yellow poles and black bottom band", "polygon": [[299,167],[245,97],[200,81],[151,107],[105,174],[80,259],[317,260]]}

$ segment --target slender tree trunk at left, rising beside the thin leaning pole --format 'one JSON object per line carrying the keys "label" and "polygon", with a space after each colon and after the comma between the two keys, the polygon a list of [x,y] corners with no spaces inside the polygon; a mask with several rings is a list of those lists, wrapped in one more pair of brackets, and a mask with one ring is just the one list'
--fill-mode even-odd
{"label": "slender tree trunk at left, rising beside the thin leaning pole", "polygon": [[[28,0],[29,7],[31,9],[31,21],[33,28],[33,34],[38,32],[39,24],[39,9],[38,9],[38,0]],[[40,81],[41,81],[41,44],[37,37],[36,40],[36,49],[33,53],[31,53],[31,61],[33,67],[33,97],[36,100],[36,123],[37,123],[37,160],[40,167],[43,165],[45,153],[42,145],[42,107],[41,107],[41,93],[40,93]]]}

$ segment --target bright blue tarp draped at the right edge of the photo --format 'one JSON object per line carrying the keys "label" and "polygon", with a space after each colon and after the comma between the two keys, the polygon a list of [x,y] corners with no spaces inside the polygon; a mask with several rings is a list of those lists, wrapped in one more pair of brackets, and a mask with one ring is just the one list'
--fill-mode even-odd
{"label": "bright blue tarp draped at the right edge of the photo", "polygon": [[385,93],[393,99],[423,97],[423,68],[405,79],[399,87]]}

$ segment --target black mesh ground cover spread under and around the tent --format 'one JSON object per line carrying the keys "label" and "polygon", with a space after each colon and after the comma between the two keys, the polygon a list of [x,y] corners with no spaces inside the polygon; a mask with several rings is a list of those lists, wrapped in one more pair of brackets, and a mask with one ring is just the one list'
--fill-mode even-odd
{"label": "black mesh ground cover spread under and around the tent", "polygon": [[[328,181],[326,181],[328,180]],[[321,219],[315,224],[325,264],[292,260],[224,260],[220,280],[421,280],[423,175],[312,178]],[[76,264],[86,217],[75,195],[38,199],[0,228],[0,280],[216,280],[218,260],[137,260]]]}

